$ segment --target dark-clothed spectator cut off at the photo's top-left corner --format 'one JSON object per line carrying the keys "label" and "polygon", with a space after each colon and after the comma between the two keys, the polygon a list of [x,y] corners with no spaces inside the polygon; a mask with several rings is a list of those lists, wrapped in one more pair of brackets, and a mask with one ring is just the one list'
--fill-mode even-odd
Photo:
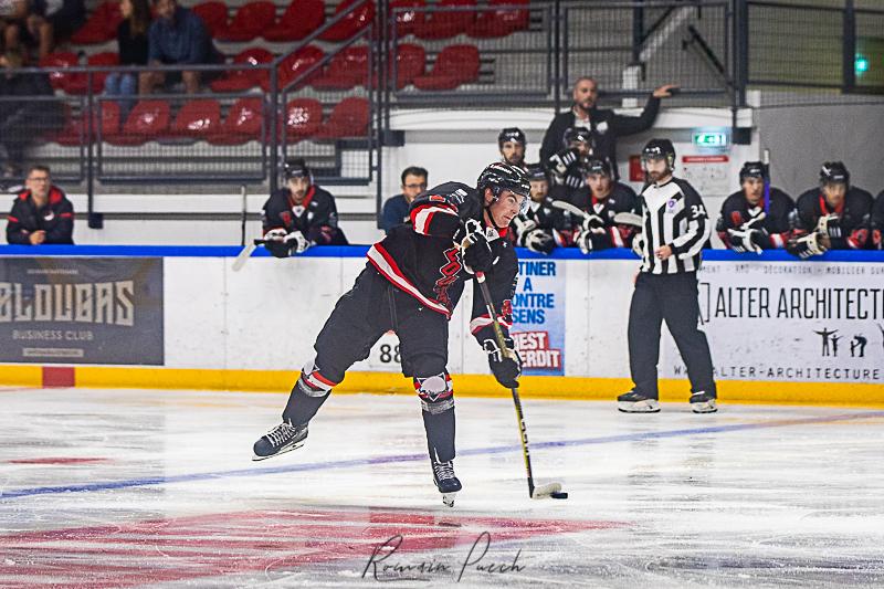
{"label": "dark-clothed spectator cut off at the photo's top-left corner", "polygon": [[36,45],[40,59],[55,49],[55,41],[71,35],[86,20],[83,0],[33,0],[24,20],[6,28],[7,48]]}

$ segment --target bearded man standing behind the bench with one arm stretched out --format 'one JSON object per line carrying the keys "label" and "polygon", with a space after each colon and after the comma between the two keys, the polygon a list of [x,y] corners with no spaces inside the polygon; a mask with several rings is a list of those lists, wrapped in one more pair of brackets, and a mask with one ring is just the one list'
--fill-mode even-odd
{"label": "bearded man standing behind the bench with one arm stretched out", "polygon": [[617,138],[623,135],[632,135],[651,128],[660,112],[660,99],[672,96],[672,91],[676,88],[673,84],[666,84],[656,88],[644,106],[644,111],[638,117],[614,114],[613,111],[599,108],[596,101],[599,97],[599,90],[596,80],[590,76],[582,76],[573,85],[573,104],[565,113],[559,113],[552,118],[549,128],[544,135],[544,143],[540,146],[540,161],[548,161],[555,154],[561,150],[565,133],[572,127],[586,127],[592,134],[592,156],[607,160],[611,165],[614,179],[620,175],[617,169]]}

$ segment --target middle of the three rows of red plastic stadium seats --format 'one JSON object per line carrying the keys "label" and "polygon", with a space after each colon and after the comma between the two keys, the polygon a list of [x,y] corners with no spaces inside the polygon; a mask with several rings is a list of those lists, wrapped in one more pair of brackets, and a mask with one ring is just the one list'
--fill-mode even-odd
{"label": "middle of the three rows of red plastic stadium seats", "polygon": [[[323,50],[307,45],[286,57],[278,66],[280,88],[316,66],[325,56]],[[252,48],[233,57],[238,65],[260,65],[273,61],[273,53],[263,48]],[[397,48],[397,87],[414,84],[419,90],[454,90],[478,78],[478,49],[475,45],[451,45],[436,56],[430,72],[425,73],[427,54],[420,45],[403,43]],[[87,65],[117,65],[116,53],[102,52],[88,57]],[[85,73],[67,73],[65,67],[77,64],[77,56],[71,52],[57,52],[40,61],[42,67],[51,70],[50,83],[67,94],[85,94],[88,81]],[[392,66],[390,75],[392,75]],[[107,73],[92,76],[92,91],[102,92]],[[368,83],[368,48],[349,46],[329,60],[325,70],[317,67],[305,82],[319,91],[345,91]],[[210,83],[213,92],[245,92],[260,87],[270,91],[270,72],[259,69],[232,70],[223,77]]]}

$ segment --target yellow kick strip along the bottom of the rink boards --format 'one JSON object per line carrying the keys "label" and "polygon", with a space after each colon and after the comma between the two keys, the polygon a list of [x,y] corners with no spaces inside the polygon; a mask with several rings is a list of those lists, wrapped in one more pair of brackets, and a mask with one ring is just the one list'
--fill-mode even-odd
{"label": "yellow kick strip along the bottom of the rink boards", "polygon": [[[287,393],[297,371],[206,370],[188,368],[143,368],[108,366],[0,365],[0,387],[14,388],[110,388],[164,390],[223,390]],[[453,375],[459,397],[507,397],[507,389],[487,375]],[[629,390],[620,378],[525,376],[519,392],[528,399],[611,400]],[[661,379],[661,400],[686,401],[688,383]],[[0,392],[2,392],[0,390]],[[335,387],[336,395],[414,395],[411,379],[398,372],[348,372]],[[800,403],[825,406],[884,407],[884,385],[851,382],[792,382],[720,380],[723,402]]]}

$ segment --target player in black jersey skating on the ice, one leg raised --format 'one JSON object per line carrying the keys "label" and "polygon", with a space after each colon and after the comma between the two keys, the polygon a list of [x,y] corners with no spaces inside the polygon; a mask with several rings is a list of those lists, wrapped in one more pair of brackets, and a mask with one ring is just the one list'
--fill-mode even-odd
{"label": "player in black jersey skating on the ice, one leg raised", "polygon": [[[460,182],[432,188],[411,203],[411,224],[394,227],[368,252],[366,269],[338,299],[316,338],[316,357],[301,371],[283,422],[254,444],[254,460],[299,448],[307,423],[354,362],[368,357],[388,330],[399,336],[402,374],[421,401],[433,481],[453,504],[461,490],[454,474],[454,390],[449,376],[449,319],[474,272],[486,276],[508,337],[518,262],[506,236],[527,204],[530,186],[519,168],[492,164],[473,189]],[[465,249],[464,249],[465,246]],[[473,297],[471,330],[501,385],[518,387],[522,362],[495,340],[494,319],[480,293]]]}

